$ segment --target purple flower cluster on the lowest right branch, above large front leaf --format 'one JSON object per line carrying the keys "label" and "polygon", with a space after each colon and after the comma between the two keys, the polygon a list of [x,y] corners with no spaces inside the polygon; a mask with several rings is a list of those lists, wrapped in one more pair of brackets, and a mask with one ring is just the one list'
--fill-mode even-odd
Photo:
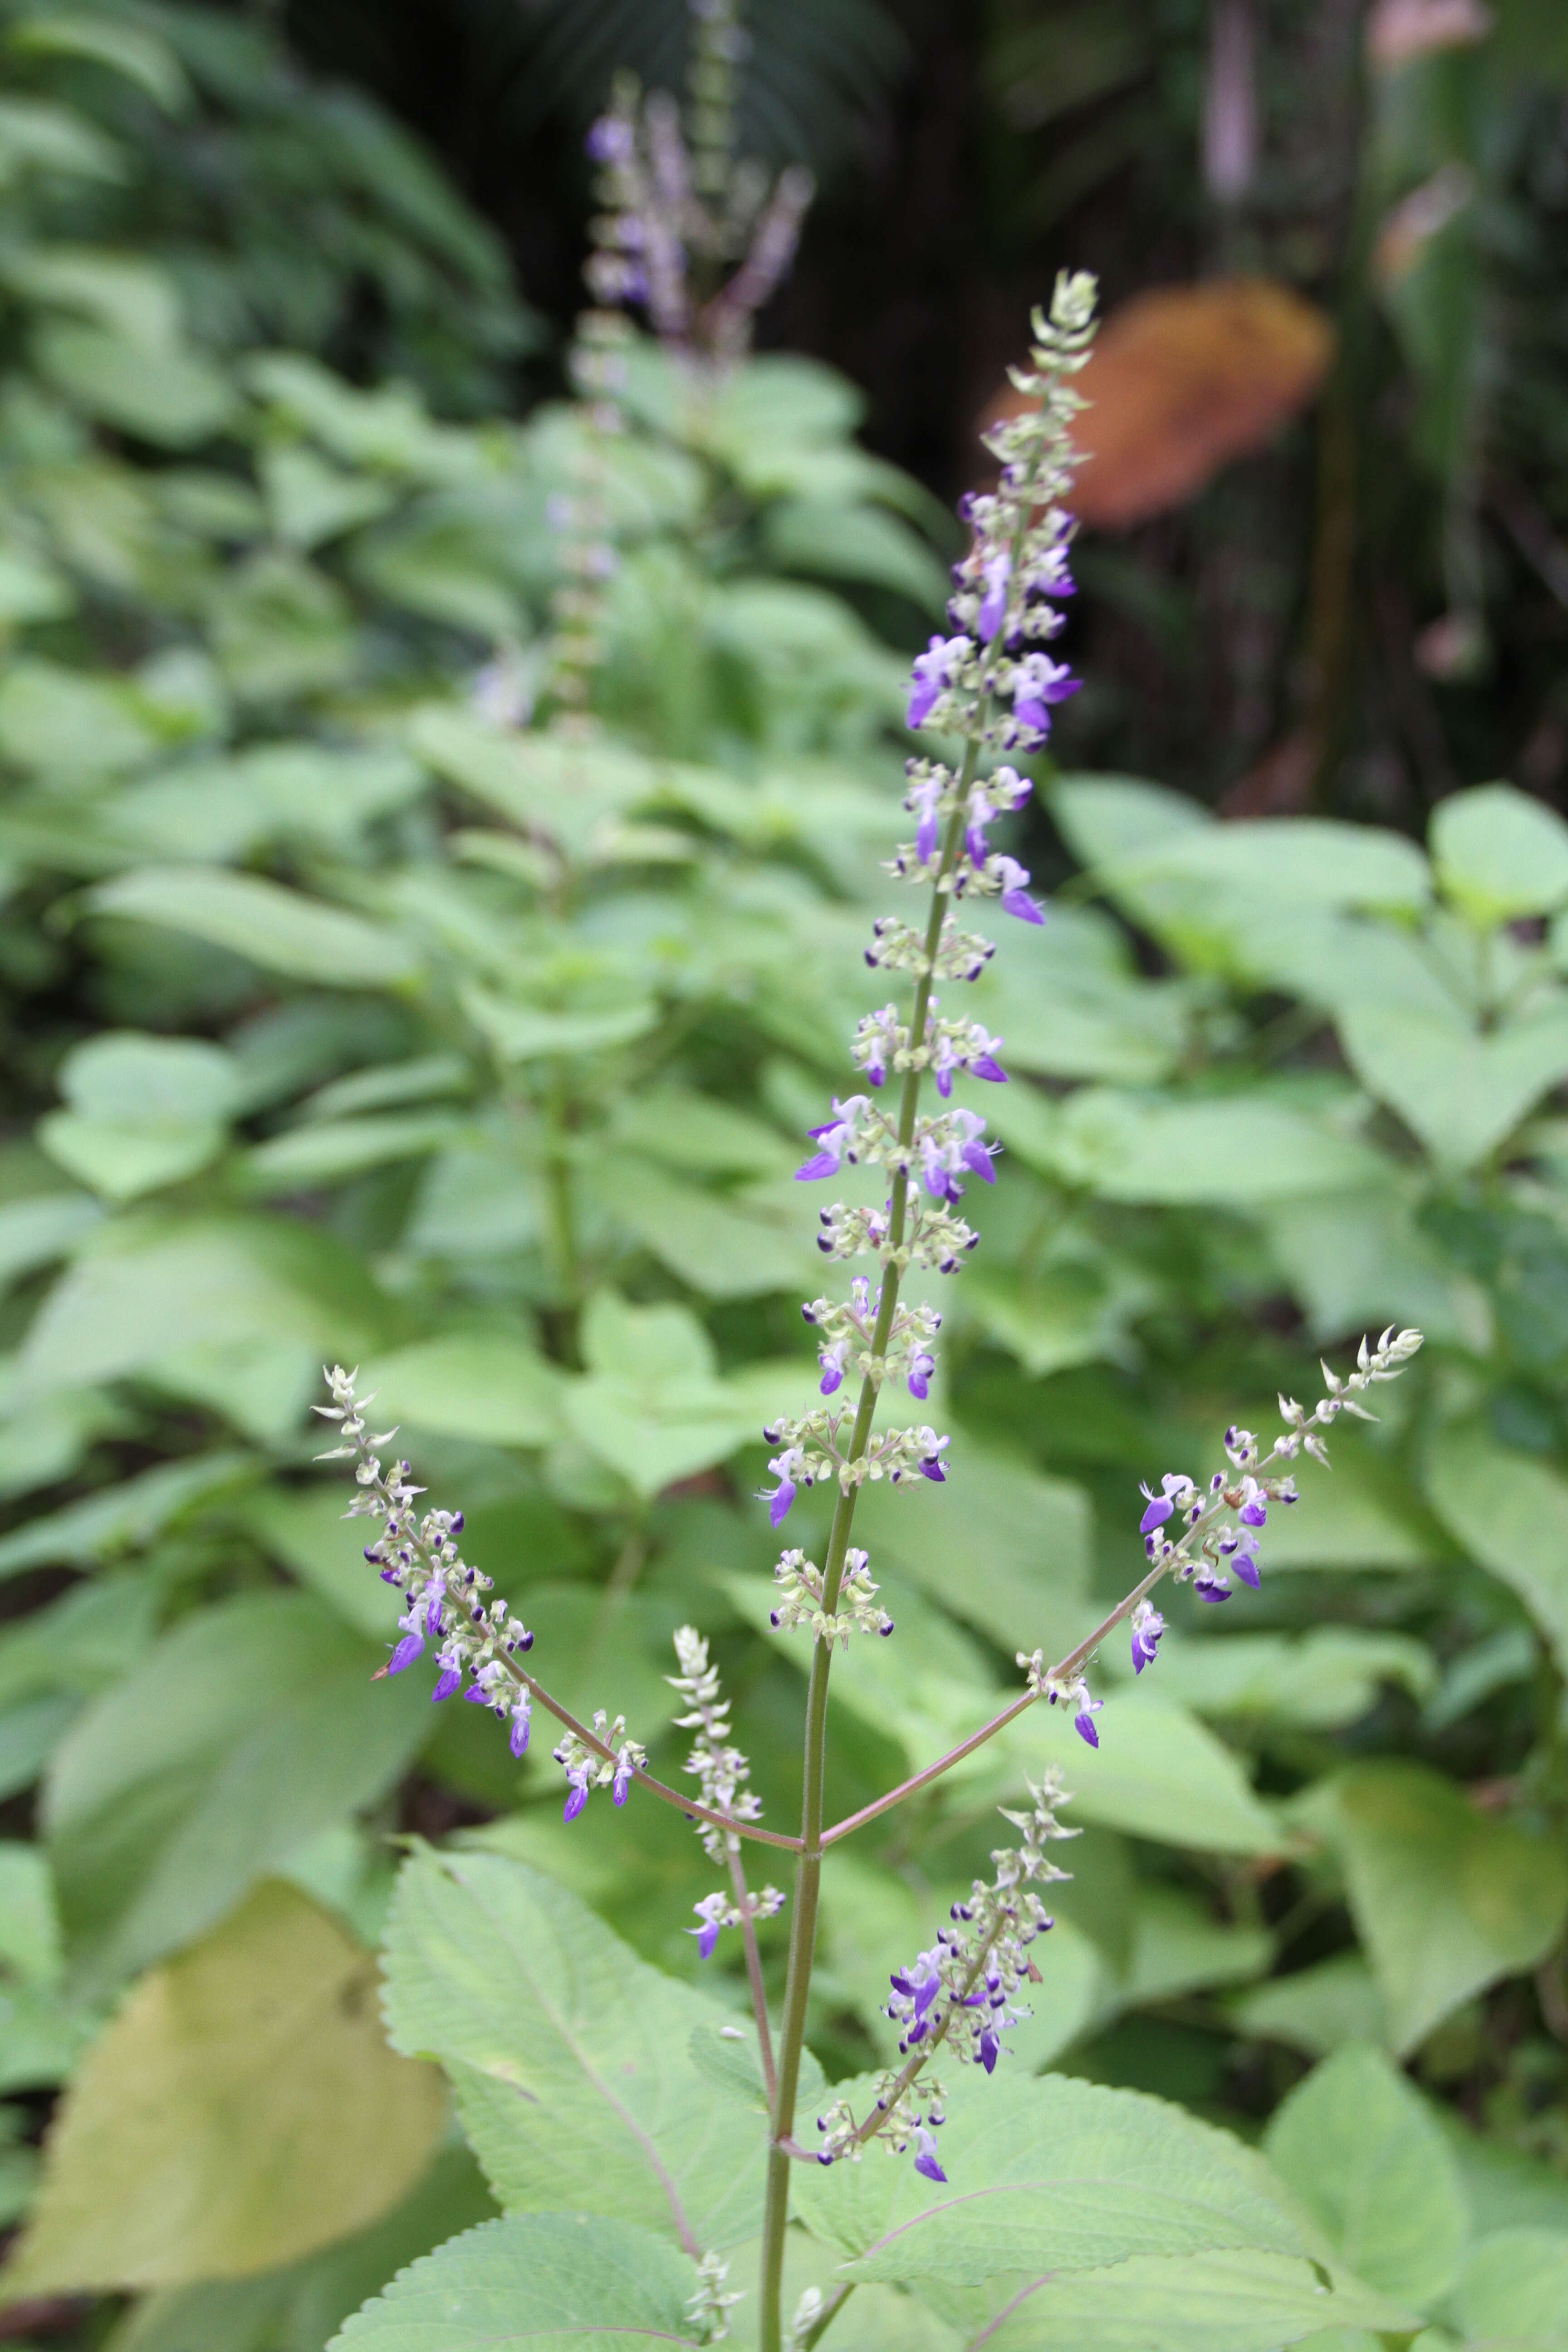
{"label": "purple flower cluster on the lowest right branch, above large front leaf", "polygon": [[914,1962],[891,1978],[886,2016],[898,2025],[898,2053],[907,2063],[898,2072],[882,2074],[872,2114],[863,2124],[856,2124],[846,2100],[818,2117],[823,2164],[837,2157],[858,2159],[863,2145],[877,2138],[886,2140],[893,2154],[914,2145],[914,2171],[929,2180],[947,2178],[936,2152],[943,2093],[940,2084],[922,2072],[924,2063],[945,2044],[961,2065],[994,2072],[1004,2051],[1001,2034],[1030,2016],[1018,1992],[1039,1983],[1030,1945],[1053,1924],[1037,1889],[1070,1875],[1058,1870],[1046,1849],[1060,1837],[1079,1835],[1056,1818],[1058,1804],[1065,1802],[1056,1769],[1039,1783],[1030,1780],[1027,1790],[1034,1799],[1027,1813],[1001,1806],[1001,1818],[1023,1832],[1020,1842],[992,1853],[994,1877],[976,1879],[969,1898],[952,1905],[950,1922],[938,1929],[931,1950],[917,1952]]}

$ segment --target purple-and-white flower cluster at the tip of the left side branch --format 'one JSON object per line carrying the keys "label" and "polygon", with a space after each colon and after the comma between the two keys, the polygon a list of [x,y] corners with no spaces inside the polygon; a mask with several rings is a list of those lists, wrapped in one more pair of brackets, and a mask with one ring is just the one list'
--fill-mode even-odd
{"label": "purple-and-white flower cluster at the tip of the left side branch", "polygon": [[512,1755],[520,1757],[529,1745],[531,1691],[512,1661],[534,1646],[534,1635],[505,1599],[484,1599],[494,1588],[491,1578],[458,1550],[463,1512],[418,1512],[423,1486],[409,1484],[409,1463],[383,1468],[376,1449],[390,1444],[397,1430],[367,1432],[364,1414],[376,1399],[355,1397],[355,1378],[341,1364],[327,1371],[331,1404],[317,1404],[315,1411],[322,1421],[339,1423],[341,1444],[317,1454],[317,1461],[353,1461],[357,1494],[346,1517],[381,1522],[364,1557],[383,1583],[407,1597],[397,1618],[400,1639],[383,1672],[404,1675],[435,1642],[430,1698],[451,1698],[468,1682],[463,1696],[473,1705],[491,1708],[510,1722]]}

